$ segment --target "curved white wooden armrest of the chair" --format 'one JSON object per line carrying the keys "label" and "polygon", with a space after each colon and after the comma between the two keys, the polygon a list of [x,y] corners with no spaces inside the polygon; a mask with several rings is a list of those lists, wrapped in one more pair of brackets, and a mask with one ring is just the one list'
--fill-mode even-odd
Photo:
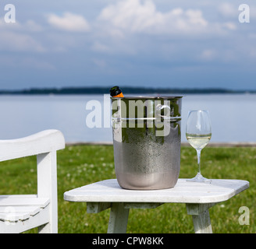
{"label": "curved white wooden armrest of the chair", "polygon": [[0,161],[34,156],[65,148],[65,139],[58,130],[45,130],[22,139],[0,140]]}

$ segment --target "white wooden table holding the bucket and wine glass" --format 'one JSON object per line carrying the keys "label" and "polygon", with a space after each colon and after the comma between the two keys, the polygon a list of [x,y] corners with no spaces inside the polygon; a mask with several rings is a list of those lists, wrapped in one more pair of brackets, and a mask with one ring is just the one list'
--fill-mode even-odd
{"label": "white wooden table holding the bucket and wine glass", "polygon": [[119,187],[116,179],[98,181],[64,193],[69,202],[87,202],[87,212],[111,208],[108,233],[126,233],[129,209],[152,209],[164,203],[186,203],[195,233],[212,233],[208,209],[249,188],[248,181],[212,180],[195,183],[179,179],[174,188],[135,191]]}

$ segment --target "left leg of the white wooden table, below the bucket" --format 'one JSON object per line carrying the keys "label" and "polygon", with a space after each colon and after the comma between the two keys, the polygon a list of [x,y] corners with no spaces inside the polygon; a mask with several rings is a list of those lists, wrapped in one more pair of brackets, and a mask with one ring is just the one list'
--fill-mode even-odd
{"label": "left leg of the white wooden table, below the bucket", "polygon": [[129,210],[125,209],[123,203],[112,202],[110,210],[108,233],[126,233]]}

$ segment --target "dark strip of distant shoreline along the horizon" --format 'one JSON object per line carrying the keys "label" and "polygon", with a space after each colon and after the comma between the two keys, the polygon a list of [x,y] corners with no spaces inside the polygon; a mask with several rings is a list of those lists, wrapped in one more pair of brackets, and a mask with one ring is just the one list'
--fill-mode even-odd
{"label": "dark strip of distant shoreline along the horizon", "polygon": [[[222,88],[149,88],[149,87],[130,87],[120,86],[123,93],[126,94],[237,94],[237,93],[256,93],[256,90],[232,90]],[[1,90],[0,95],[35,95],[35,94],[104,94],[109,93],[111,86],[94,86],[94,87],[62,87],[62,88],[30,88],[17,90]]]}

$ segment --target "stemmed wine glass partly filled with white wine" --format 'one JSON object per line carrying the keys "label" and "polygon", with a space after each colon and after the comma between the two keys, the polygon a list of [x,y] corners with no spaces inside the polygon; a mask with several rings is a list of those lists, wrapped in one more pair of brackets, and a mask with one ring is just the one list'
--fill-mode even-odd
{"label": "stemmed wine glass partly filled with white wine", "polygon": [[194,149],[197,150],[197,175],[187,181],[210,182],[201,175],[200,159],[201,149],[208,145],[212,137],[211,120],[208,110],[190,110],[187,117],[186,138]]}

